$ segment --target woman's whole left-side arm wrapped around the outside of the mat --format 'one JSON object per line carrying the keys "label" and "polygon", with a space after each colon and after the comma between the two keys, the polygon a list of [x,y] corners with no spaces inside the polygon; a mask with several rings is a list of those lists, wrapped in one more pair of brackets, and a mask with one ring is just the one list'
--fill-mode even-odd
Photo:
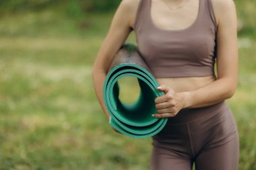
{"label": "woman's whole left-side arm wrapped around the outside of the mat", "polygon": [[106,35],[106,38],[100,47],[92,68],[94,90],[96,92],[100,106],[108,120],[109,114],[104,105],[102,95],[103,85],[106,79],[108,67],[113,60],[113,57],[115,56],[117,50],[119,50],[121,45],[125,42],[127,36],[129,36],[129,33],[132,30],[130,27],[132,22],[131,18],[133,17],[131,10],[134,10],[132,1],[133,0],[121,1],[111,22],[108,34]]}

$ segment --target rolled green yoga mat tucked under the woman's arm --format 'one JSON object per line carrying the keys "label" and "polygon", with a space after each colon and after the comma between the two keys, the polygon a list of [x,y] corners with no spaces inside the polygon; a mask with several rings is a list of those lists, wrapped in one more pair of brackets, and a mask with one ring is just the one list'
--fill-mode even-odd
{"label": "rolled green yoga mat tucked under the woman's arm", "polygon": [[[119,99],[118,80],[123,77],[136,77],[140,87],[139,98],[135,103],[123,103]],[[154,118],[154,99],[164,95],[158,91],[159,84],[141,58],[137,46],[125,43],[118,50],[110,65],[103,87],[103,98],[110,114],[109,123],[119,132],[133,138],[148,138],[164,128],[167,118]],[[133,91],[130,91],[133,93]]]}

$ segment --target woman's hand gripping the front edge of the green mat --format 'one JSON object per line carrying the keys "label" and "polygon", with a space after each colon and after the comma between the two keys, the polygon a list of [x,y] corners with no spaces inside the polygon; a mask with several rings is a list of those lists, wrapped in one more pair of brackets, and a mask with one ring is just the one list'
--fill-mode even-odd
{"label": "woman's hand gripping the front edge of the green mat", "polygon": [[164,91],[165,95],[155,99],[158,112],[158,114],[152,114],[155,118],[174,117],[185,107],[185,93],[175,93],[174,90],[166,85],[160,85],[157,89]]}

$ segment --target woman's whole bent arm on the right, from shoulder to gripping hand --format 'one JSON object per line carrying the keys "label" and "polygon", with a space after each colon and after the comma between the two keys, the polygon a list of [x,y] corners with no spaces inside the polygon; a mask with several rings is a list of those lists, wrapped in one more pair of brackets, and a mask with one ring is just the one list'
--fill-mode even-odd
{"label": "woman's whole bent arm on the right, from shoulder to gripping hand", "polygon": [[175,93],[170,87],[161,85],[158,90],[166,95],[157,97],[156,118],[173,117],[182,108],[200,108],[213,105],[232,97],[236,90],[238,71],[237,19],[232,0],[212,0],[217,32],[217,71],[218,79],[195,91]]}

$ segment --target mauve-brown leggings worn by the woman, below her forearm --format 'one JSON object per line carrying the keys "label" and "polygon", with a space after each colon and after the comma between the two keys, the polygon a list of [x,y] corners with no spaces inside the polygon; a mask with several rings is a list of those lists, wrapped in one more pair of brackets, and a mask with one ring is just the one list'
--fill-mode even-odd
{"label": "mauve-brown leggings worn by the woman, below her forearm", "polygon": [[183,109],[152,137],[151,170],[235,170],[239,140],[225,101]]}

